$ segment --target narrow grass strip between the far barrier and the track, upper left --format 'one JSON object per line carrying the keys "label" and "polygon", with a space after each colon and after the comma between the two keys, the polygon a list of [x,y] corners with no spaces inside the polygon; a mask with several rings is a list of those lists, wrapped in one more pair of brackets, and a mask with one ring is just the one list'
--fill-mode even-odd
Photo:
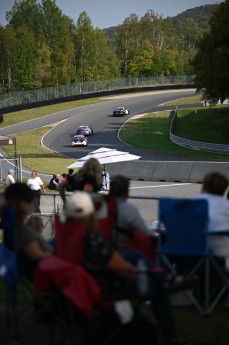
{"label": "narrow grass strip between the far barrier and the track, upper left", "polygon": [[82,99],[78,101],[47,105],[45,107],[16,111],[16,112],[4,115],[4,121],[3,123],[0,124],[0,128],[14,125],[15,123],[20,123],[20,122],[36,119],[45,115],[57,113],[59,111],[74,109],[81,106],[101,103],[101,102],[106,102],[106,99],[89,98],[89,99]]}

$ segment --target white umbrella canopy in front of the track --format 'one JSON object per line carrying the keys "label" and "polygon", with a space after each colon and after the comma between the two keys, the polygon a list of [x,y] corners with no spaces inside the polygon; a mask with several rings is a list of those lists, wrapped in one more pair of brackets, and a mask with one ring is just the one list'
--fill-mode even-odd
{"label": "white umbrella canopy in front of the track", "polygon": [[109,164],[109,163],[132,161],[132,160],[139,159],[141,157],[132,155],[129,152],[118,151],[116,149],[101,147],[98,150],[90,152],[87,156],[79,158],[75,163],[69,165],[68,168],[80,168],[90,158],[96,158],[100,164]]}

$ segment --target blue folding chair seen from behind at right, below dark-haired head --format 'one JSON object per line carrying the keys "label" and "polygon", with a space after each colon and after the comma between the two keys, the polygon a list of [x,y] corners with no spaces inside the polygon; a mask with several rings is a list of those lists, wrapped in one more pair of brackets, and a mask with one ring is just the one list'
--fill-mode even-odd
{"label": "blue folding chair seen from behind at right, below dark-haired head", "polygon": [[[199,272],[203,274],[203,298],[197,298],[194,291],[187,291],[187,294],[201,314],[210,314],[229,287],[229,281],[218,258],[207,248],[207,201],[161,198],[159,200],[159,219],[165,227],[165,232],[161,232],[163,243],[159,244],[158,248],[162,262],[172,273],[176,273],[171,261],[171,256],[176,256],[182,264],[189,261],[187,263],[188,278]],[[212,288],[210,281],[213,272],[217,273],[220,278],[217,293]]]}

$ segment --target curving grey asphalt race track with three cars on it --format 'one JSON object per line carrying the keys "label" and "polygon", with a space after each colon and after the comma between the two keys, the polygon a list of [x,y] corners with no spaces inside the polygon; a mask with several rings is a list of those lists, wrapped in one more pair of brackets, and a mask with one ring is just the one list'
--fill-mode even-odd
{"label": "curving grey asphalt race track with three cars on it", "polygon": [[[43,144],[65,156],[78,159],[88,152],[100,147],[115,148],[121,151],[129,151],[141,156],[142,160],[187,160],[172,154],[164,154],[151,150],[130,147],[118,138],[118,131],[128,118],[133,115],[151,113],[164,109],[175,109],[175,106],[162,106],[163,103],[173,99],[194,95],[193,90],[170,90],[160,92],[147,92],[141,95],[125,95],[105,103],[95,104],[75,109],[75,114],[61,122],[51,130],[43,139]],[[125,117],[113,117],[115,106],[125,106],[130,109],[130,115]],[[88,138],[88,146],[83,148],[71,147],[71,136],[75,134],[80,125],[89,125],[94,130],[94,135]]]}

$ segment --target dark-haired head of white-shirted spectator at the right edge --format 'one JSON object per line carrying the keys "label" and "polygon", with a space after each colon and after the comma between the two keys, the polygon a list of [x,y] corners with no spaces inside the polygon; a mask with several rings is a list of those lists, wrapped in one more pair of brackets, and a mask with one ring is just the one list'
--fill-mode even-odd
{"label": "dark-haired head of white-shirted spectator at the right edge", "polygon": [[202,192],[223,196],[229,186],[226,176],[218,172],[207,174],[203,180]]}

